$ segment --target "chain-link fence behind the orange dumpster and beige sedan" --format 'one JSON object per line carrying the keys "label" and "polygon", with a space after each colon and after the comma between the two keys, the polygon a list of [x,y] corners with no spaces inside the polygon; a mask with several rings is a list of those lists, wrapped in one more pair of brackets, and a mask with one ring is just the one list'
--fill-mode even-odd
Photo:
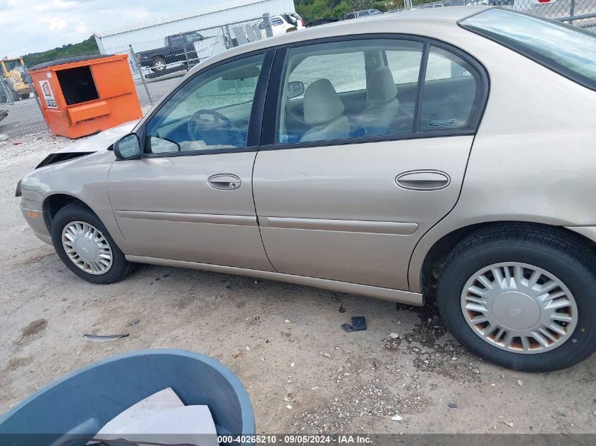
{"label": "chain-link fence behind the orange dumpster and beige sedan", "polygon": [[[444,8],[452,4],[492,5],[525,11],[535,16],[561,20],[596,31],[596,0],[409,0],[410,8]],[[406,0],[406,4],[408,0]],[[409,5],[408,5],[409,6]],[[403,11],[403,8],[391,12]],[[105,54],[128,54],[143,113],[166,94],[190,68],[226,49],[255,42],[272,35],[269,15],[198,30],[179,30],[174,35],[156,35],[142,42],[107,47]],[[80,56],[87,56],[80,54]],[[48,61],[39,61],[49,62]],[[1,68],[1,67],[0,67]],[[11,67],[8,67],[11,68]],[[0,134],[20,137],[47,130],[26,66],[12,67],[29,89],[16,92],[14,82],[0,73]],[[18,76],[17,76],[18,77]],[[21,87],[23,85],[20,85]],[[5,112],[8,114],[5,116]],[[3,118],[4,116],[4,118]]]}

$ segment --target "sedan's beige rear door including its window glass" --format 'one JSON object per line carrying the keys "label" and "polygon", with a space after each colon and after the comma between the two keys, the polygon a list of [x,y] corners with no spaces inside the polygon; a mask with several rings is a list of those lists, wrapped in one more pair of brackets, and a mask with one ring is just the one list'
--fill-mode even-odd
{"label": "sedan's beige rear door including its window glass", "polygon": [[[408,290],[415,244],[461,190],[486,95],[480,67],[395,36],[280,49],[273,73],[283,93],[267,101],[276,118],[253,174],[269,260],[281,273]],[[303,97],[286,93],[296,82]]]}

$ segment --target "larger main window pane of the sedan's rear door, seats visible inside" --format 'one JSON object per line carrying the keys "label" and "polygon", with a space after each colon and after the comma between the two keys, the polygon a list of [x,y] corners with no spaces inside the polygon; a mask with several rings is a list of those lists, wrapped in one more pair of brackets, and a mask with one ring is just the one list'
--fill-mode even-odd
{"label": "larger main window pane of the sedan's rear door, seats visible inside", "polygon": [[[362,39],[289,49],[277,142],[411,132],[422,47]],[[288,94],[296,85],[304,85],[304,94]]]}

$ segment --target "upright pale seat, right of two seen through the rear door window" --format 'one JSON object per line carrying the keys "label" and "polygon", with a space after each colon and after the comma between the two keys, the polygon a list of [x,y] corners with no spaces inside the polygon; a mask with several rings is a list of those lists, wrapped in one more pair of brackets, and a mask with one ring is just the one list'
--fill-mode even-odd
{"label": "upright pale seat, right of two seen through the rear door window", "polygon": [[365,130],[365,135],[386,135],[399,110],[396,99],[397,87],[389,67],[379,67],[368,80],[367,99],[369,106],[360,113],[357,127]]}

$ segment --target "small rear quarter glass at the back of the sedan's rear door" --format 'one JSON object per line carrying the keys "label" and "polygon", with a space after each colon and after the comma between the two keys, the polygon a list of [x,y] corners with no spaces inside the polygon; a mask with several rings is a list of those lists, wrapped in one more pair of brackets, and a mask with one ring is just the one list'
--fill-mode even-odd
{"label": "small rear quarter glass at the back of the sedan's rear door", "polygon": [[420,131],[469,129],[478,85],[480,74],[473,66],[449,51],[431,47]]}

